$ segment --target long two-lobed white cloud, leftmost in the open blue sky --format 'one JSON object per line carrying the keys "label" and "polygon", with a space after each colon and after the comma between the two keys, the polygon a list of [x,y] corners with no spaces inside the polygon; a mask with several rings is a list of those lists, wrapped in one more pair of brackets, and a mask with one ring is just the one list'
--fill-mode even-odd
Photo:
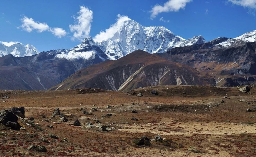
{"label": "long two-lobed white cloud, leftmost in the open blue sky", "polygon": [[36,30],[39,33],[48,31],[52,32],[52,34],[58,38],[61,38],[67,34],[62,28],[50,28],[46,23],[35,22],[34,19],[28,18],[27,16],[23,16],[20,21],[22,22],[22,25],[18,28],[22,28],[27,32],[32,32],[33,30]]}

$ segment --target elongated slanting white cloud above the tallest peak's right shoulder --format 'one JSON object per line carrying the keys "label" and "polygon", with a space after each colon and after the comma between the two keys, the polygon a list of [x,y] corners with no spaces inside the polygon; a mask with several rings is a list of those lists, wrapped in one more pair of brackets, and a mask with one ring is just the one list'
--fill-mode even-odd
{"label": "elongated slanting white cloud above the tallest peak's right shoulder", "polygon": [[150,19],[154,19],[159,13],[169,12],[169,11],[179,11],[180,9],[184,9],[186,3],[192,2],[192,0],[169,0],[164,3],[164,6],[155,5],[151,12]]}

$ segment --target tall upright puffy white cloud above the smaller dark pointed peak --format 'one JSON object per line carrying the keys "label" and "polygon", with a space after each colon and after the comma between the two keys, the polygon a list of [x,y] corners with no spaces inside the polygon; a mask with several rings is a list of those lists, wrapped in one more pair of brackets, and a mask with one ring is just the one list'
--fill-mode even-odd
{"label": "tall upright puffy white cloud above the smaller dark pointed peak", "polygon": [[74,16],[74,25],[69,25],[70,31],[73,32],[72,40],[83,40],[88,37],[91,31],[91,22],[93,19],[93,12],[85,6],[80,6],[79,16]]}

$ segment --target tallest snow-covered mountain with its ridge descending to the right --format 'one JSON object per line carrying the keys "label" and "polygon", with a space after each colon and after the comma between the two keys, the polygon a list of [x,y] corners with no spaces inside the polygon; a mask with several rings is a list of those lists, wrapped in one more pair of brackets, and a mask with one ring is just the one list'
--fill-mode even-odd
{"label": "tallest snow-covered mountain with its ridge descending to the right", "polygon": [[203,36],[185,40],[175,36],[165,27],[145,27],[134,20],[126,20],[115,34],[97,44],[112,60],[123,57],[137,49],[149,53],[164,53],[174,47],[204,44]]}

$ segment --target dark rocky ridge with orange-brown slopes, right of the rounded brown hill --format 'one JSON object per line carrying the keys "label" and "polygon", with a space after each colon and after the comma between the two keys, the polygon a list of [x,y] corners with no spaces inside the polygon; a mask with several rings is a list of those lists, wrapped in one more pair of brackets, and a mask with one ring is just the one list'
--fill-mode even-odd
{"label": "dark rocky ridge with orange-brown slopes, right of the rounded brown hill", "polygon": [[[219,43],[225,40],[227,38],[217,38],[205,44],[177,47],[154,55],[215,74],[220,79],[214,80],[214,86],[256,83],[256,42],[239,42],[230,47],[222,47]],[[208,79],[213,83],[211,78]]]}

